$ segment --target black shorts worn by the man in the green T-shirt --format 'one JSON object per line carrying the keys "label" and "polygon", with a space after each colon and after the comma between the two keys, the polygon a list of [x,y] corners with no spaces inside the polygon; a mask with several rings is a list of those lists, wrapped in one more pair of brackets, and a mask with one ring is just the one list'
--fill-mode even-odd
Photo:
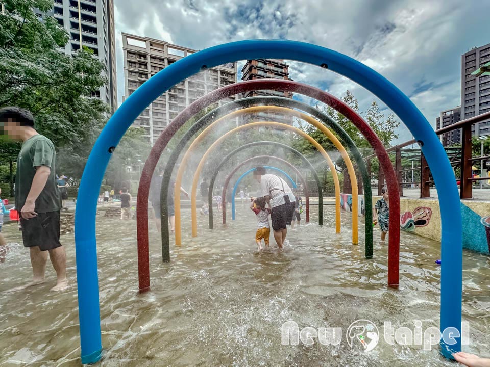
{"label": "black shorts worn by the man in the green T-shirt", "polygon": [[53,250],[60,243],[60,212],[38,213],[31,219],[20,218],[24,247],[39,246],[41,251]]}

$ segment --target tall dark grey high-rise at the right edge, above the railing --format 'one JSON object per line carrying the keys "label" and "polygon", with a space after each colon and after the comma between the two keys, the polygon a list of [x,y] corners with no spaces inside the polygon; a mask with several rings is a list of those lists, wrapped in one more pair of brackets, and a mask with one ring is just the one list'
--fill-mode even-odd
{"label": "tall dark grey high-rise at the right edge, above the railing", "polygon": [[[461,55],[461,120],[490,111],[490,75],[471,75],[488,62],[490,44]],[[475,137],[490,135],[490,119],[474,124],[472,133]]]}

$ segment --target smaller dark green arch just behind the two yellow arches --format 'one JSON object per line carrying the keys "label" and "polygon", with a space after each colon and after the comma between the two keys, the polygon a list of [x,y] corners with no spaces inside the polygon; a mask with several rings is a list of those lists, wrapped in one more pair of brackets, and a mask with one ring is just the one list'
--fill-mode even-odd
{"label": "smaller dark green arch just behind the two yellow arches", "polygon": [[[210,210],[209,210],[209,229],[213,229],[213,211],[212,211],[212,205],[211,205],[212,204],[212,193],[213,193],[213,190],[214,190],[214,181],[216,180],[216,177],[218,175],[219,170],[236,153],[238,153],[238,152],[240,152],[240,151],[242,151],[244,149],[253,147],[253,146],[265,146],[265,145],[273,145],[273,146],[280,147],[280,148],[283,148],[285,150],[288,150],[290,152],[293,152],[293,153],[297,154],[301,158],[301,160],[303,161],[303,163],[309,167],[311,173],[313,174],[313,178],[315,179],[316,186],[317,186],[317,189],[318,189],[318,225],[322,225],[323,224],[323,197],[322,197],[323,192],[322,192],[322,185],[320,184],[320,179],[318,179],[318,175],[316,174],[316,171],[315,171],[315,168],[313,167],[313,165],[298,150],[296,150],[294,148],[291,148],[290,146],[288,146],[286,144],[282,144],[282,143],[278,143],[278,142],[272,142],[272,141],[261,141],[261,142],[248,143],[248,144],[242,145],[242,146],[236,148],[235,150],[233,150],[230,154],[228,154],[223,159],[223,161],[221,161],[221,163],[216,167],[215,171],[211,175],[211,179],[209,181],[209,193],[208,193],[208,202],[209,202],[209,207],[210,207]],[[307,182],[306,179],[305,179],[305,182]],[[306,188],[306,186],[305,186],[305,188]],[[308,201],[309,201],[309,198],[308,198]],[[306,218],[309,221],[309,202],[306,205]],[[163,238],[162,238],[162,241],[163,241]]]}

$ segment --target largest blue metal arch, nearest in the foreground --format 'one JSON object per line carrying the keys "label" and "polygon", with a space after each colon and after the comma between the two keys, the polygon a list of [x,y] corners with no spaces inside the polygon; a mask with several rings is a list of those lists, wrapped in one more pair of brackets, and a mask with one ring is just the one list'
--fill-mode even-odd
{"label": "largest blue metal arch, nearest in the foreground", "polygon": [[[462,225],[458,188],[446,152],[432,126],[410,99],[386,78],[366,65],[328,48],[288,40],[248,40],[210,47],[189,55],[146,81],[121,104],[95,142],[80,182],[75,215],[75,245],[82,363],[101,358],[99,283],[95,216],[97,197],[111,153],[135,118],[171,86],[202,69],[237,60],[272,58],[301,61],[326,67],[360,84],[390,108],[405,123],[422,151],[434,177],[441,213],[441,311],[440,329],[461,330]],[[443,354],[461,350],[442,342]]]}

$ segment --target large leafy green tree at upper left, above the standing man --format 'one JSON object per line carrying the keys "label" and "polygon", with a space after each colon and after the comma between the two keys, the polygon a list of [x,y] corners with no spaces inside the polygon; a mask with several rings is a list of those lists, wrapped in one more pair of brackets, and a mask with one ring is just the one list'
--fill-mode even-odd
{"label": "large leafy green tree at upper left, above the standing man", "polygon": [[93,98],[106,83],[104,64],[88,48],[74,56],[60,51],[68,33],[47,12],[50,0],[3,0],[0,14],[0,107],[32,112],[39,133],[55,146],[84,141],[100,127],[107,105]]}

